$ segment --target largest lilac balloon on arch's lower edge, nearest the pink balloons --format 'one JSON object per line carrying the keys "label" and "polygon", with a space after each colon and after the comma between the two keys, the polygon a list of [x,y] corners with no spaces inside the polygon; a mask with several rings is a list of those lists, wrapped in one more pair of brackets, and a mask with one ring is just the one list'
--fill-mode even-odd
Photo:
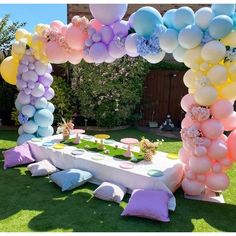
{"label": "largest lilac balloon on arch's lower edge, nearest the pink balloons", "polygon": [[107,47],[104,43],[94,43],[89,50],[89,56],[95,63],[102,63],[107,58]]}

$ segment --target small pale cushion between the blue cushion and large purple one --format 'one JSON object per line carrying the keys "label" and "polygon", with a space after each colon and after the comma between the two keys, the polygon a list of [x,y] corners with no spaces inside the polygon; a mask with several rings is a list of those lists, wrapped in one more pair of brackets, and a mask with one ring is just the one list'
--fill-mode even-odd
{"label": "small pale cushion between the blue cushion and large purple one", "polygon": [[99,199],[120,203],[126,191],[127,189],[122,185],[103,182],[93,194]]}

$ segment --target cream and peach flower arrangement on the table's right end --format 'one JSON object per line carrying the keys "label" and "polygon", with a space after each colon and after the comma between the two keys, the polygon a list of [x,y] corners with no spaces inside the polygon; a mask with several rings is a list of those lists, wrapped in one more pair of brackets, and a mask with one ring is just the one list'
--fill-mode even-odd
{"label": "cream and peach flower arrangement on the table's right end", "polygon": [[144,153],[144,160],[151,161],[153,156],[156,154],[157,148],[163,142],[163,139],[157,139],[156,142],[151,142],[149,139],[142,137],[142,140],[139,142],[139,147],[140,151]]}

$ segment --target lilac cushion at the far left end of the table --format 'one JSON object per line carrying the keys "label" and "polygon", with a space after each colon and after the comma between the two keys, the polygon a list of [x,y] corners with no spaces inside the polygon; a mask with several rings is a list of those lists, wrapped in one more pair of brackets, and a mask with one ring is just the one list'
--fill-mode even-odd
{"label": "lilac cushion at the far left end of the table", "polygon": [[2,152],[4,156],[4,169],[34,162],[29,145],[24,143],[20,146]]}

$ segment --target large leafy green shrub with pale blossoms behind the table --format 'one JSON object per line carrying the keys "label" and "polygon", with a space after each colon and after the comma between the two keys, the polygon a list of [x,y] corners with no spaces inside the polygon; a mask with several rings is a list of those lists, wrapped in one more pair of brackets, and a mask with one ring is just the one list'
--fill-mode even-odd
{"label": "large leafy green shrub with pale blossoms behind the table", "polygon": [[124,125],[135,116],[148,64],[124,57],[111,64],[81,62],[72,67],[72,89],[82,116],[101,127]]}

